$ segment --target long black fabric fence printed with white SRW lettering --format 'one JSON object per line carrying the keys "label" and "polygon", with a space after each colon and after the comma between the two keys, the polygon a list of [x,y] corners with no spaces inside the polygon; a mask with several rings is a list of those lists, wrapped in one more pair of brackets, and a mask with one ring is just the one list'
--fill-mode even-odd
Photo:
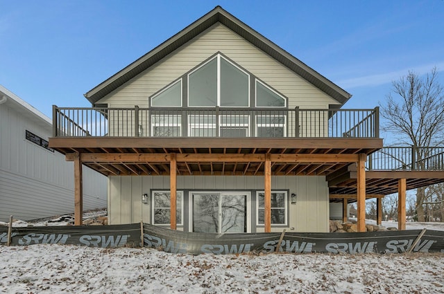
{"label": "long black fabric fence printed with white SRW lettering", "polygon": [[[143,235],[142,235],[143,234]],[[8,227],[0,227],[0,245],[8,244]],[[142,243],[143,242],[143,243]],[[442,252],[444,231],[378,232],[182,232],[144,223],[110,226],[42,226],[12,228],[10,245],[72,244],[99,248],[147,247],[198,255],[247,252],[399,253]]]}

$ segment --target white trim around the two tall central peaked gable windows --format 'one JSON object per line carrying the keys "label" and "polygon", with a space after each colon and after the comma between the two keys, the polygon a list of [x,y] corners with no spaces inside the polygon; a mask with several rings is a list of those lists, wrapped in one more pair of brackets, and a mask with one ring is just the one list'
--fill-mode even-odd
{"label": "white trim around the two tall central peaked gable windows", "polygon": [[[225,62],[228,62],[229,64],[231,64],[232,66],[234,66],[234,68],[237,68],[239,71],[241,71],[242,73],[244,73],[247,77],[248,77],[248,83],[247,83],[247,88],[248,88],[248,96],[247,96],[247,106],[239,106],[239,107],[226,107],[226,106],[221,106],[221,58],[223,58],[225,60]],[[194,68],[192,71],[190,71],[189,73],[187,73],[187,107],[196,107],[196,108],[207,108],[208,106],[190,106],[189,105],[189,76],[192,75],[193,73],[195,73],[196,71],[198,71],[200,68],[202,68],[203,66],[205,66],[206,64],[212,62],[214,59],[217,59],[216,61],[216,76],[217,76],[217,81],[216,81],[216,105],[211,106],[211,107],[221,107],[221,108],[242,108],[242,109],[248,109],[250,108],[250,96],[251,96],[251,91],[250,91],[250,81],[251,81],[251,75],[250,73],[248,73],[247,71],[245,71],[243,68],[241,68],[240,66],[238,66],[237,64],[235,64],[234,62],[232,62],[230,59],[224,57],[221,53],[216,53],[216,55],[214,57],[210,57],[210,59],[207,59],[205,62],[203,62],[202,64],[200,64],[199,66],[197,66],[196,68]]]}

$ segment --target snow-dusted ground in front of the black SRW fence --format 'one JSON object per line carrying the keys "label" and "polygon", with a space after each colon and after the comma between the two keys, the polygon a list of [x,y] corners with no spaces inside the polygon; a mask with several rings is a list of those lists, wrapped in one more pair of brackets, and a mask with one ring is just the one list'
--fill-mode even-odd
{"label": "snow-dusted ground in front of the black SRW fence", "polygon": [[0,246],[0,293],[444,293],[444,255]]}

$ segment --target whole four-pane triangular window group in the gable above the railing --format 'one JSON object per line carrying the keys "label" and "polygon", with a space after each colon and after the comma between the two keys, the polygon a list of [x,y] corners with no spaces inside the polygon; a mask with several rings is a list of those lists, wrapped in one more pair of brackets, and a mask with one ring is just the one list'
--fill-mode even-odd
{"label": "whole four-pane triangular window group in the gable above the railing", "polygon": [[288,103],[278,91],[217,53],[151,96],[150,106],[285,108]]}

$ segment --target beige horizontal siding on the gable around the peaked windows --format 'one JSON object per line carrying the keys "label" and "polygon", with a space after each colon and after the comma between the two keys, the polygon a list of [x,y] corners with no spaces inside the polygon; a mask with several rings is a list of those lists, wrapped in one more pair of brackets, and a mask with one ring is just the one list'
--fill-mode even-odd
{"label": "beige horizontal siding on the gable around the peaked windows", "polygon": [[328,109],[339,104],[329,95],[280,64],[222,24],[214,24],[187,44],[126,82],[97,104],[148,107],[148,97],[217,52],[232,59],[289,98],[289,109]]}

